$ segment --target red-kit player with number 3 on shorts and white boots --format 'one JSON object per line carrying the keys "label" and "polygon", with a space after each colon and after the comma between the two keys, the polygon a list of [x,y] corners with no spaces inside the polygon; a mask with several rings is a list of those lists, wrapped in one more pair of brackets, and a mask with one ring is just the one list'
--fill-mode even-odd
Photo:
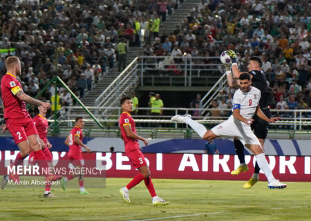
{"label": "red-kit player with number 3 on shorts and white boots", "polygon": [[131,98],[124,97],[121,99],[121,106],[122,106],[122,114],[120,115],[119,119],[119,126],[121,128],[121,138],[124,140],[125,146],[125,153],[131,164],[135,169],[138,169],[140,173],[135,175],[133,180],[129,182],[126,186],[120,189],[120,193],[123,199],[126,202],[131,202],[129,200],[129,190],[142,182],[144,180],[144,184],[147,186],[149,193],[152,197],[152,204],[153,205],[167,205],[170,202],[162,200],[161,198],[156,195],[156,191],[153,187],[153,183],[150,177],[149,167],[147,165],[146,160],[144,160],[144,155],[142,151],[140,151],[140,146],[138,144],[138,140],[142,140],[145,145],[148,145],[148,140],[144,139],[144,137],[140,137],[135,130],[135,122],[134,119],[131,117],[131,112],[133,109],[133,103]]}

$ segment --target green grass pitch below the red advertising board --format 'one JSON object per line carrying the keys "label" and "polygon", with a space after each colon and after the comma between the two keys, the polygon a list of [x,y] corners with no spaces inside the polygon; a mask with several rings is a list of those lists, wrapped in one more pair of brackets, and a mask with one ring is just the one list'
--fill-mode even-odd
{"label": "green grass pitch below the red advertising board", "polygon": [[131,204],[124,202],[119,189],[130,180],[108,178],[106,188],[91,189],[98,180],[86,178],[90,195],[53,189],[58,198],[42,198],[44,189],[0,189],[0,220],[311,220],[310,182],[270,190],[267,182],[243,189],[241,181],[154,179],[171,204],[152,206],[143,182],[130,191]]}

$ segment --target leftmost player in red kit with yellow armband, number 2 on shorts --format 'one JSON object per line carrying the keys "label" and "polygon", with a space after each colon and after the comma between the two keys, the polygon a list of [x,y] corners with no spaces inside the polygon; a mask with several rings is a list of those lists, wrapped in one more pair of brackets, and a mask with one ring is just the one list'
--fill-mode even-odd
{"label": "leftmost player in red kit with yellow armband, number 2 on shorts", "polygon": [[[39,166],[43,168],[44,171],[48,171],[48,162],[41,150],[35,124],[26,110],[26,102],[47,109],[50,108],[50,104],[33,99],[23,93],[21,83],[16,78],[18,75],[21,75],[21,61],[19,61],[18,57],[10,56],[6,59],[6,70],[8,72],[6,75],[3,75],[1,79],[1,95],[6,124],[3,124],[1,128],[2,133],[6,131],[6,129],[10,131],[15,144],[17,144],[20,149],[11,167],[21,164],[23,159],[30,153],[30,150],[32,150],[34,151],[34,156]],[[46,174],[46,180],[53,181],[61,178],[61,176]],[[19,182],[19,177],[16,174],[3,177],[4,182],[5,179],[12,179],[14,182]]]}

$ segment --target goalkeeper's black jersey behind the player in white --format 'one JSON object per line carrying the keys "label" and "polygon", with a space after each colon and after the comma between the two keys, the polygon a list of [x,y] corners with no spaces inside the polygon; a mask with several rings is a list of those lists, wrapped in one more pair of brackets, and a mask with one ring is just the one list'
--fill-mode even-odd
{"label": "goalkeeper's black jersey behind the player in white", "polygon": [[261,90],[261,99],[259,101],[260,108],[266,108],[273,101],[273,94],[267,85],[267,79],[263,70],[252,70],[249,72],[253,76],[252,86]]}

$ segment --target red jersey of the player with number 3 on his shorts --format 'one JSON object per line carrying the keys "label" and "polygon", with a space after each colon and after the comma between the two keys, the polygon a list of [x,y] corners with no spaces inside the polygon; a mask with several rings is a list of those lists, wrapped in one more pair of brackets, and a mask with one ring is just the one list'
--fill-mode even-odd
{"label": "red jersey of the player with number 3 on his shorts", "polygon": [[124,140],[125,152],[133,151],[139,149],[138,140],[128,137],[124,130],[124,126],[130,125],[133,133],[137,134],[135,129],[135,122],[133,117],[129,113],[123,112],[120,115],[119,126],[121,128],[122,139]]}

